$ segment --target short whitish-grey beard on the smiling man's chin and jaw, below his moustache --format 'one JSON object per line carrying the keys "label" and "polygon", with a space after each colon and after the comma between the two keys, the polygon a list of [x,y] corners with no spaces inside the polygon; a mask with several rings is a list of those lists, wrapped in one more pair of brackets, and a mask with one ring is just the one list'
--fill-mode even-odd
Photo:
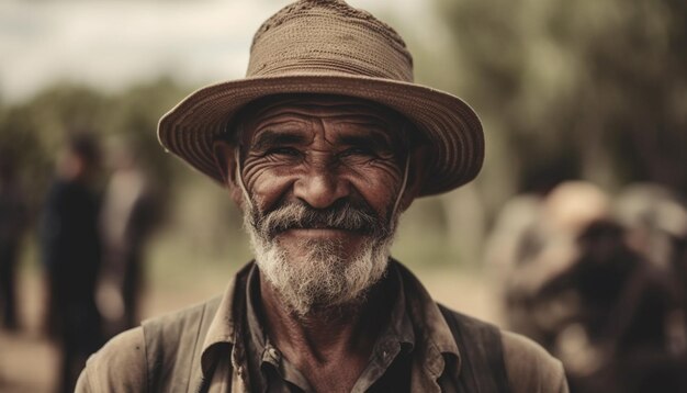
{"label": "short whitish-grey beard on the smiling man's chin and jaw, below his moustache", "polygon": [[[382,237],[370,236],[354,252],[336,240],[304,240],[299,249],[307,250],[295,260],[277,239],[261,234],[246,211],[244,221],[260,272],[277,291],[283,305],[303,317],[314,310],[356,305],[368,290],[382,279],[388,265],[390,248],[398,215],[391,231]],[[349,257],[346,255],[349,254]]]}

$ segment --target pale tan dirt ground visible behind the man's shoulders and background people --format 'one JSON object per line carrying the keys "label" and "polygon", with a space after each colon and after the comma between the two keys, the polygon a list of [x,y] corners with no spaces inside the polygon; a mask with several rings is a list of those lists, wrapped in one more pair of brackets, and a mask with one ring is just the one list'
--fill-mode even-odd
{"label": "pale tan dirt ground visible behind the man's shoulders and background people", "polygon": [[[499,323],[495,292],[475,273],[455,270],[416,271],[435,299],[482,319]],[[143,316],[149,317],[198,303],[223,290],[222,280],[189,280],[178,287],[151,282],[143,300]],[[30,269],[20,276],[22,329],[0,330],[0,392],[52,392],[58,352],[41,333],[44,292],[41,278]]]}

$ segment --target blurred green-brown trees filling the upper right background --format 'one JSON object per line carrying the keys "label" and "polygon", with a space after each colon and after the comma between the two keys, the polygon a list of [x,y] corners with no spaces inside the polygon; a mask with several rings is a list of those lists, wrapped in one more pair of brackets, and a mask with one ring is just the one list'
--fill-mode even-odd
{"label": "blurred green-brown trees filling the upper right background", "polygon": [[461,65],[453,90],[487,125],[483,182],[513,173],[515,192],[579,176],[685,193],[687,2],[437,4]]}

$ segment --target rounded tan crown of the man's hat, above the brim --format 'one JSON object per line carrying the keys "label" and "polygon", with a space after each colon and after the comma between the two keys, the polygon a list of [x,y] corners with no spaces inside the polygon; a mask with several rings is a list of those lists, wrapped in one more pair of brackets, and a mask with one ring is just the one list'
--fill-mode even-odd
{"label": "rounded tan crown of the man's hat, above the brim", "polygon": [[413,81],[413,57],[386,23],[341,0],[300,0],[256,32],[247,77],[368,76]]}

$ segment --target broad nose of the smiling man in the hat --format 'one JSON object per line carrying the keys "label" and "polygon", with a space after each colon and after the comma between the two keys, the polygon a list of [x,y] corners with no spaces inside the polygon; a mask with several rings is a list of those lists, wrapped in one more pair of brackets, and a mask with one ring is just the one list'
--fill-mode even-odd
{"label": "broad nose of the smiling man in the hat", "polygon": [[326,209],[350,193],[350,183],[325,165],[315,165],[293,184],[294,196],[314,209]]}

